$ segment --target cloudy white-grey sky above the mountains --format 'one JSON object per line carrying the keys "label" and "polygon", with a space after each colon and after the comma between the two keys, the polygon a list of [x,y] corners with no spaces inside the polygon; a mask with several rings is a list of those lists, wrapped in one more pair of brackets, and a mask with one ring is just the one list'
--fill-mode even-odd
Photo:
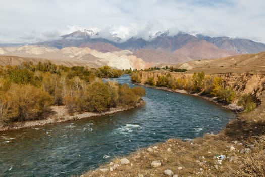
{"label": "cloudy white-grey sky above the mountains", "polygon": [[79,29],[148,39],[158,31],[265,43],[264,0],[8,0],[0,5],[0,43],[59,39]]}

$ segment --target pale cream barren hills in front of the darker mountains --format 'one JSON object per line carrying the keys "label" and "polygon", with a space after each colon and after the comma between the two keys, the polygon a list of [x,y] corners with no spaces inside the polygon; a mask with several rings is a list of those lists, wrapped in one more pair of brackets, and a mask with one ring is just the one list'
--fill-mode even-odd
{"label": "pale cream barren hills in front of the darker mountains", "polygon": [[5,56],[18,56],[34,59],[48,59],[52,62],[73,65],[101,67],[108,65],[118,69],[144,69],[150,67],[131,54],[130,51],[116,51],[102,53],[90,48],[65,47],[57,49],[54,47],[27,45],[22,47],[0,48],[0,54]]}

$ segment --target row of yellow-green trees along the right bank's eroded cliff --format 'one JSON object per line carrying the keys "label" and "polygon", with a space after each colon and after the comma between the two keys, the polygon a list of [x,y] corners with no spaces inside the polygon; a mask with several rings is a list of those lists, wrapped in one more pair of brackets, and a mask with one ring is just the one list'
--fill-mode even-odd
{"label": "row of yellow-green trees along the right bank's eroded cliff", "polygon": [[[134,72],[131,74],[132,82],[141,83],[140,72]],[[244,94],[242,96],[236,96],[236,93],[232,86],[226,86],[224,80],[218,76],[206,76],[203,71],[194,73],[192,77],[180,77],[174,79],[170,73],[166,75],[158,76],[157,81],[154,82],[153,77],[149,77],[145,84],[153,86],[164,86],[169,89],[184,89],[190,93],[199,93],[200,95],[208,95],[216,97],[219,101],[229,104],[235,99],[238,99],[237,104],[243,106],[245,112],[250,112],[256,108],[254,96]]]}

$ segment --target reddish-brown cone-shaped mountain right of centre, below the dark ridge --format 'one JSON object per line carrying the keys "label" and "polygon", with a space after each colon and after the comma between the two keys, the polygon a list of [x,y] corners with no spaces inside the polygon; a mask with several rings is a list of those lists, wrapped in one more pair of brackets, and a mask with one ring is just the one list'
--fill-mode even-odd
{"label": "reddish-brown cone-shaped mountain right of centre, below the dark ridge", "polygon": [[221,49],[213,43],[205,40],[191,40],[185,46],[177,49],[173,53],[189,56],[193,59],[227,57],[238,54],[236,52]]}

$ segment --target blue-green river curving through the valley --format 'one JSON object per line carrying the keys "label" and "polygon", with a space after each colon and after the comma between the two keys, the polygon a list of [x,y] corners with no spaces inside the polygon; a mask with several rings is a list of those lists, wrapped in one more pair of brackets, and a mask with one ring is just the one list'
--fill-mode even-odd
{"label": "blue-green river curving through the valley", "polygon": [[[130,82],[128,75],[117,79]],[[146,105],[114,115],[0,132],[0,176],[70,176],[169,138],[217,133],[233,112],[151,88]]]}

